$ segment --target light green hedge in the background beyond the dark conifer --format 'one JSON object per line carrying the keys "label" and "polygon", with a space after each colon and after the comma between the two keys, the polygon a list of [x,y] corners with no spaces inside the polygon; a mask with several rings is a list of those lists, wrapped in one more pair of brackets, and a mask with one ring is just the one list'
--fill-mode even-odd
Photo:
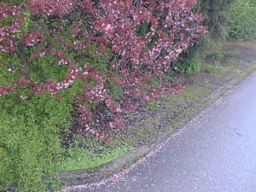
{"label": "light green hedge in the background beyond the dark conifer", "polygon": [[229,38],[256,38],[256,6],[250,0],[238,0],[230,10]]}

